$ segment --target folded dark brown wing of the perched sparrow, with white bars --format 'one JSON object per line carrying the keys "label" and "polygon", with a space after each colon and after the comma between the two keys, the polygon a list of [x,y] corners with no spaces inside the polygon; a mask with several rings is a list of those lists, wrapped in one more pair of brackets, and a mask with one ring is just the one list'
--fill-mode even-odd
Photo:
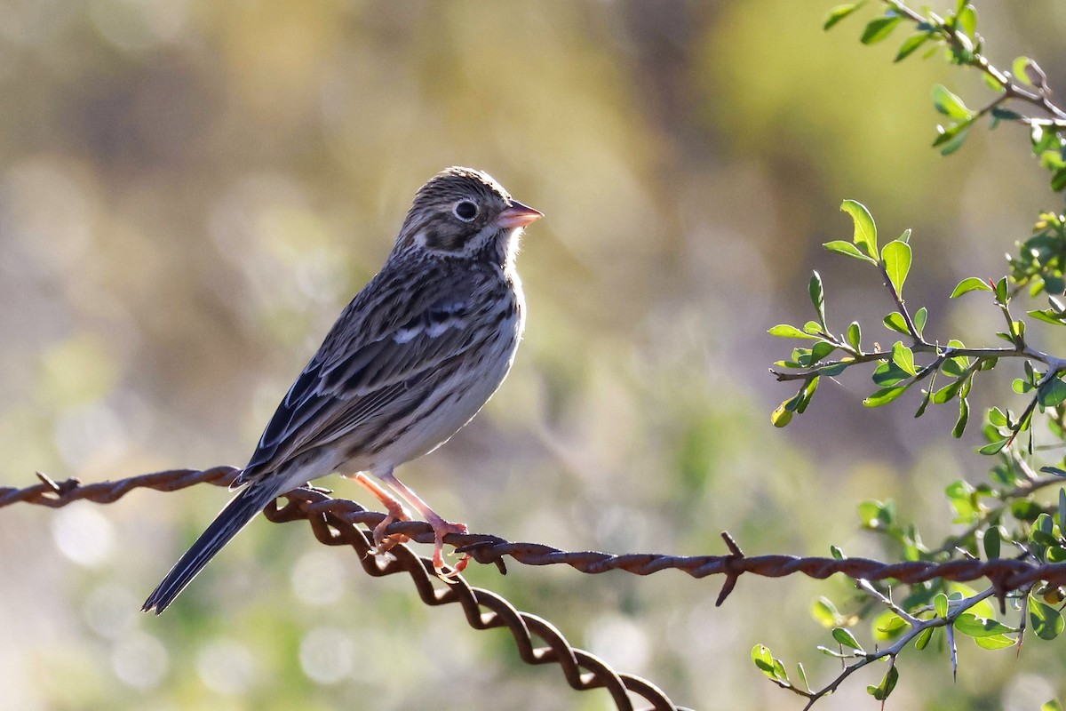
{"label": "folded dark brown wing of the perched sparrow, with white bars", "polygon": [[[338,319],[278,405],[240,483],[352,432],[482,340],[474,282],[452,282],[443,296],[435,279],[414,292],[383,294],[379,286],[368,286]],[[368,292],[378,298],[370,303]]]}

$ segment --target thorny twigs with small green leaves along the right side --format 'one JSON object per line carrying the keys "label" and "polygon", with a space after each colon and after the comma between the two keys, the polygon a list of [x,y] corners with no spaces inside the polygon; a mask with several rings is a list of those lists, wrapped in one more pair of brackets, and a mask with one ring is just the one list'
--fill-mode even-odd
{"label": "thorny twigs with small green leaves along the right side", "polygon": [[[825,29],[855,14],[860,6],[861,3],[854,3],[834,7],[825,19]],[[911,9],[897,0],[886,0],[879,7],[882,13],[868,20],[862,29],[862,44],[884,42],[898,28],[909,25],[912,32],[902,39],[897,62],[921,48],[931,48],[926,56],[939,50],[949,62],[979,70],[995,93],[991,100],[972,109],[946,86],[935,86],[933,106],[944,123],[937,127],[934,147],[943,155],[954,152],[965,143],[971,128],[985,118],[991,128],[1002,122],[1025,124],[1030,127],[1033,155],[1040,166],[1051,173],[1051,189],[1066,190],[1066,112],[1050,102],[1047,78],[1036,62],[1018,58],[1011,74],[991,65],[981,54],[983,39],[978,33],[976,9],[966,0],[959,0],[942,14],[928,7]],[[1007,103],[1013,108],[1007,108]],[[1056,118],[1032,117],[1023,113],[1025,107],[1039,107]],[[999,311],[1005,324],[1004,330],[989,335],[1004,341],[1005,345],[968,348],[959,339],[927,339],[928,310],[924,307],[912,309],[904,301],[904,285],[916,258],[910,230],[878,251],[877,227],[870,210],[852,199],[844,200],[841,210],[852,220],[852,239],[830,241],[824,246],[877,269],[888,296],[882,325],[889,333],[892,345],[863,348],[863,337],[868,341],[876,339],[870,324],[858,321],[847,323],[838,335],[835,330],[838,326],[826,318],[826,284],[814,273],[809,291],[818,321],[808,322],[803,328],[782,324],[771,330],[775,336],[801,338],[809,344],[809,348],[793,350],[791,358],[776,362],[780,369],[773,371],[777,378],[798,382],[800,390],[778,408],[787,413],[787,417],[777,417],[775,411],[774,423],[785,426],[792,415],[806,411],[813,394],[808,387],[811,383],[859,368],[863,372],[872,371],[873,388],[863,404],[870,407],[890,405],[914,389],[921,393],[916,417],[921,417],[930,404],[957,406],[958,415],[951,434],[959,438],[976,419],[970,405],[974,384],[985,382],[982,373],[1010,362],[1020,370],[1012,389],[1015,397],[1024,400],[1020,409],[1001,405],[984,413],[980,427],[984,443],[976,451],[990,462],[987,481],[974,484],[960,479],[944,489],[944,497],[954,512],[953,522],[963,527],[963,531],[939,545],[927,546],[918,526],[906,520],[892,500],[871,499],[860,503],[859,523],[883,536],[904,561],[944,563],[959,555],[979,558],[982,554],[995,561],[1015,555],[1015,551],[1020,550],[1020,558],[1031,563],[1066,562],[1063,529],[1066,487],[1062,486],[1066,460],[1056,458],[1066,449],[1066,358],[1033,348],[1027,336],[1030,324],[1039,328],[1066,325],[1066,298],[1063,298],[1066,217],[1059,211],[1041,213],[1032,235],[1019,241],[1016,255],[1008,256],[1007,274],[994,279],[967,277],[951,291],[951,298],[972,295],[985,300],[990,309]],[[1040,294],[1046,295],[1048,306],[1028,308],[1024,313],[1031,321],[1014,314],[1018,300]],[[846,306],[840,307],[841,310]],[[1040,431],[1039,449],[1033,443],[1034,429]],[[1045,460],[1040,463],[1045,466],[1036,465],[1039,467],[1037,473],[1033,462],[1039,458]],[[1050,487],[1059,487],[1053,505],[1048,505],[1040,496]],[[811,616],[830,631],[836,646],[818,649],[839,658],[845,665],[835,683],[811,692],[805,678],[804,689],[794,686],[784,674],[784,663],[772,658],[769,650],[760,657],[761,662],[757,661],[760,668],[779,685],[813,704],[831,693],[851,672],[886,660],[889,665],[881,682],[867,688],[875,699],[884,700],[900,678],[897,657],[911,642],[916,651],[922,651],[930,648],[935,636],[938,637],[942,643],[940,648],[946,648],[954,668],[957,664],[956,637],[970,639],[986,650],[1020,650],[1027,628],[1043,641],[1056,639],[1066,628],[1060,612],[1066,591],[1052,585],[1002,597],[999,613],[988,602],[995,593],[992,587],[976,592],[941,580],[909,586],[859,581],[859,587],[863,595],[855,601],[854,612],[826,597],[819,598],[810,609]],[[873,652],[867,651],[869,645],[863,646],[855,630],[857,623],[867,617],[872,618]],[[1049,701],[1044,708],[1052,711],[1060,706],[1057,701]]]}

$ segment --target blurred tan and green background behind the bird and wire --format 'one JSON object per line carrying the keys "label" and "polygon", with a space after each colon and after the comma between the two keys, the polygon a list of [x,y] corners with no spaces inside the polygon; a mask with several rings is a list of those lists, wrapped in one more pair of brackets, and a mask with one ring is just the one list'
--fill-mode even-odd
{"label": "blurred tan and green background behind the bird and wire", "polygon": [[[980,106],[980,79],[938,58],[893,66],[903,30],[862,47],[869,11],[824,33],[831,4],[0,2],[0,484],[243,464],[415,190],[464,164],[547,217],[519,258],[529,322],[510,378],[400,472],[437,511],[562,548],[722,553],[729,530],[749,554],[877,555],[856,506],[891,497],[938,539],[943,486],[986,475],[980,427],[955,441],[954,411],[866,409],[857,378],[775,430],[794,388],[766,369],[792,343],[765,332],[811,317],[818,269],[836,328],[895,340],[873,327],[890,310],[876,275],[820,246],[850,239],[851,197],[883,241],[915,229],[906,295],[926,333],[980,339],[998,314],[947,295],[1004,273],[1061,201],[1022,129],[931,149],[933,84]],[[1066,6],[978,11],[995,63],[1034,56],[1066,87]],[[3,510],[0,708],[612,708],[306,526],[255,521],[167,614],[140,614],[226,499]],[[468,577],[700,709],[800,708],[749,650],[828,680],[808,610],[853,595],[752,578],[715,609],[721,581],[671,571]],[[911,655],[891,702],[1036,708],[1066,669],[1027,651],[963,641],[955,684],[944,655]],[[819,708],[875,708],[865,686],[883,673]]]}

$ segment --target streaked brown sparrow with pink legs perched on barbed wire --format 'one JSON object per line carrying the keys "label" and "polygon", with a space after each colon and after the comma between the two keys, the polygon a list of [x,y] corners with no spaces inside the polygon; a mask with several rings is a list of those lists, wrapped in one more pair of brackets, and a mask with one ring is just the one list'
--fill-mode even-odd
{"label": "streaked brown sparrow with pink legs perched on barbed wire", "polygon": [[406,501],[433,529],[437,575],[465,568],[469,555],[446,573],[442,548],[446,535],[467,527],[434,512],[393,470],[450,439],[511,370],[526,324],[519,237],[543,216],[482,171],[453,166],[422,185],[385,265],[343,309],[263,430],[230,487],[239,492],[142,611],[161,614],[270,502],[333,472],[388,512],[372,552],[407,540],[385,535],[393,521],[409,520]]}

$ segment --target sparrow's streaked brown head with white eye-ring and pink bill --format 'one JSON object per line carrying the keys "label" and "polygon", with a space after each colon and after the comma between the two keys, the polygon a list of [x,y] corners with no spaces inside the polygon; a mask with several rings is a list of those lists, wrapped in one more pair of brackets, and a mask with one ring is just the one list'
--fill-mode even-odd
{"label": "sparrow's streaked brown head with white eye-ring and pink bill", "polygon": [[395,252],[513,262],[518,235],[544,215],[512,199],[490,175],[450,167],[415,195]]}

